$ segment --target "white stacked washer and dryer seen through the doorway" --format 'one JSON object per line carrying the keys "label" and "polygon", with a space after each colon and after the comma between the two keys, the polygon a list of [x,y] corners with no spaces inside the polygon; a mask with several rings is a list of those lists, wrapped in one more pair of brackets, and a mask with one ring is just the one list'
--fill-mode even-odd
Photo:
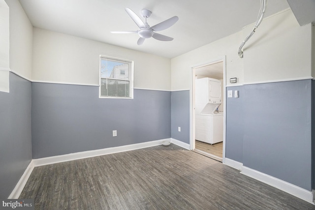
{"label": "white stacked washer and dryer seen through the doorway", "polygon": [[209,144],[223,141],[221,81],[213,78],[195,82],[195,139]]}

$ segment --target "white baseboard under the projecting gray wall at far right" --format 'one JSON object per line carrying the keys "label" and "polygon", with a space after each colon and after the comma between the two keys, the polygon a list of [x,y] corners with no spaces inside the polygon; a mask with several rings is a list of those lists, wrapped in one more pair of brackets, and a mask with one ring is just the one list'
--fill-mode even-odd
{"label": "white baseboard under the projecting gray wall at far right", "polygon": [[276,187],[280,190],[283,190],[284,192],[287,192],[291,195],[294,195],[294,196],[296,196],[296,197],[298,197],[304,201],[307,201],[311,204],[314,204],[313,203],[313,193],[311,191],[303,189],[299,186],[296,186],[296,185],[291,184],[289,182],[286,182],[284,180],[280,180],[278,178],[272,177],[270,175],[261,173],[259,171],[253,170],[253,169],[248,168],[246,166],[242,167],[241,174],[252,177],[255,180],[259,180],[261,182],[269,184],[273,187]]}

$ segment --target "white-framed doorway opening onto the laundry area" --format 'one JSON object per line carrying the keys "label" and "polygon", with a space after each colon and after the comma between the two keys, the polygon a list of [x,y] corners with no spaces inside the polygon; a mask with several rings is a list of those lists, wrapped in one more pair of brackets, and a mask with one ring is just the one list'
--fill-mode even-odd
{"label": "white-framed doorway opening onto the laundry area", "polygon": [[[221,103],[218,107],[215,107],[213,114],[209,114],[209,121],[211,121],[211,126],[213,126],[209,131],[209,134],[213,135],[215,133],[220,140],[209,141],[208,137],[205,141],[200,137],[200,117],[204,118],[199,114],[198,106],[196,110],[196,82],[200,82],[199,79],[211,78],[213,80],[218,80],[221,82]],[[210,79],[210,80],[211,80]],[[198,81],[197,81],[198,80]],[[199,89],[200,90],[200,89]],[[198,94],[197,94],[198,95]],[[199,96],[198,96],[199,97]],[[197,114],[196,114],[197,113]],[[206,114],[207,115],[207,114]],[[221,117],[218,117],[218,115]],[[197,119],[196,119],[197,117]],[[206,117],[208,118],[208,117]],[[210,120],[212,119],[212,120]],[[220,120],[215,120],[220,119]],[[197,128],[196,128],[197,120]],[[219,124],[218,124],[219,123]],[[219,126],[218,126],[219,125]],[[219,128],[218,128],[219,127]],[[225,160],[225,58],[221,60],[215,60],[212,62],[204,63],[201,65],[195,65],[191,68],[191,87],[190,87],[190,149],[200,153],[202,155],[208,156],[215,160],[224,162]],[[215,133],[213,133],[215,131]],[[202,131],[203,132],[203,131]],[[203,133],[204,134],[204,133]],[[208,134],[207,134],[208,135]],[[212,138],[212,137],[210,137]]]}

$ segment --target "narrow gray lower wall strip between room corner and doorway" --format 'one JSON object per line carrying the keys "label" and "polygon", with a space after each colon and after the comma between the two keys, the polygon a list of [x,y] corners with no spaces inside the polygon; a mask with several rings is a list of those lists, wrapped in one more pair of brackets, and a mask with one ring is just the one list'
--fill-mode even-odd
{"label": "narrow gray lower wall strip between room corner and doorway", "polygon": [[172,138],[189,144],[189,90],[171,92],[171,113]]}

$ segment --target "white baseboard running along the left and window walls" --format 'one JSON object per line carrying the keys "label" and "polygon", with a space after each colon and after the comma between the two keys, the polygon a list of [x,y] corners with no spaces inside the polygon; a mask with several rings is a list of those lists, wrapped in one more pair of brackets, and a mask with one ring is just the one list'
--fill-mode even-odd
{"label": "white baseboard running along the left and window walls", "polygon": [[95,157],[95,156],[100,156],[100,155],[105,155],[105,154],[112,154],[112,153],[117,153],[117,152],[154,147],[154,146],[161,145],[162,141],[171,141],[171,139],[170,138],[161,139],[161,140],[156,140],[156,141],[151,141],[151,142],[125,145],[125,146],[120,146],[120,147],[105,148],[105,149],[100,149],[100,150],[89,150],[89,151],[82,151],[82,152],[75,152],[75,153],[70,153],[70,154],[32,159],[31,163],[26,168],[24,174],[22,175],[21,179],[18,181],[18,183],[14,187],[8,199],[19,198],[26,182],[28,181],[34,167],[36,166],[43,166],[43,165],[61,163],[61,162],[66,162],[66,161],[71,161],[71,160],[78,160],[78,159],[83,159],[83,158],[88,158],[88,157]]}

